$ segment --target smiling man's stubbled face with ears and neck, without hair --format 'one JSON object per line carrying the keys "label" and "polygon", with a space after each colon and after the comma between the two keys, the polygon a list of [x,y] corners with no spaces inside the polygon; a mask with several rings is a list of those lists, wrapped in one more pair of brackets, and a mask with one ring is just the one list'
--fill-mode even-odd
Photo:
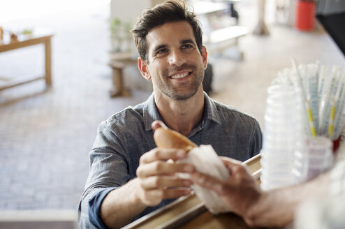
{"label": "smiling man's stubbled face with ears and neck, without hair", "polygon": [[166,125],[189,135],[203,117],[206,48],[198,49],[186,21],[159,25],[149,31],[146,41],[147,57],[138,59],[140,72],[152,80],[154,100]]}

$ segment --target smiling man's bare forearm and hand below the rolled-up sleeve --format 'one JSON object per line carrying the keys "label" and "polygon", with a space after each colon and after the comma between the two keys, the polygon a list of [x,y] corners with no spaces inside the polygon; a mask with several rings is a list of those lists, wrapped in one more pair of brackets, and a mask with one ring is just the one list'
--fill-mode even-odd
{"label": "smiling man's bare forearm and hand below the rolled-up sleeve", "polygon": [[[129,223],[147,206],[159,205],[163,199],[189,195],[189,179],[175,177],[175,172],[193,172],[193,165],[168,163],[185,158],[182,149],[152,149],[143,154],[137,169],[137,178],[119,189],[110,191],[101,205],[101,219],[109,228]],[[179,188],[179,189],[176,189]]]}

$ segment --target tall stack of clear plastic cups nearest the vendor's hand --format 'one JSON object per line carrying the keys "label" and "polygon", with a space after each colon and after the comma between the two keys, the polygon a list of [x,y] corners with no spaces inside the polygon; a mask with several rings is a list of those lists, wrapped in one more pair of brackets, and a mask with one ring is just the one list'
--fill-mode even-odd
{"label": "tall stack of clear plastic cups nearest the vendor's hand", "polygon": [[272,85],[267,93],[260,161],[261,189],[264,191],[294,183],[295,151],[304,144],[304,117],[299,91],[292,86]]}

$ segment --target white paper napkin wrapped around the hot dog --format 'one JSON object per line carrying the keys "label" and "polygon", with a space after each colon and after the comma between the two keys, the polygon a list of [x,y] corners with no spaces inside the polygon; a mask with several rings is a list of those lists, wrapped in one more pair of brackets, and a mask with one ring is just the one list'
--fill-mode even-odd
{"label": "white paper napkin wrapped around the hot dog", "polygon": [[[181,160],[182,163],[194,165],[198,172],[205,173],[216,179],[226,180],[229,178],[229,171],[216,154],[211,145],[200,145],[195,147],[187,154],[187,157]],[[188,173],[179,173],[179,176],[188,179]],[[212,214],[229,212],[229,209],[223,204],[219,196],[209,189],[205,189],[198,184],[193,184],[192,188],[196,191],[198,198],[205,203],[205,206]]]}

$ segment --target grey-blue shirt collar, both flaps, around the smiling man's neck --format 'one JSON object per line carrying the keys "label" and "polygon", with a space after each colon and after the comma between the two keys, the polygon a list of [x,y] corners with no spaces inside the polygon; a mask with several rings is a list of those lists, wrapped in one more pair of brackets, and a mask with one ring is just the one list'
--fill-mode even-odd
{"label": "grey-blue shirt collar, both flaps, around the smiling man's neck", "polygon": [[[215,121],[216,123],[220,124],[220,117],[218,110],[216,109],[216,104],[205,92],[204,92],[204,101],[205,101],[205,111],[203,114],[203,123],[207,123],[207,119]],[[151,124],[154,120],[161,120],[163,121],[161,114],[156,107],[156,103],[154,102],[154,94],[152,93],[151,96],[147,99],[144,105],[144,112],[143,112],[143,119],[145,123],[145,131],[152,130]]]}

